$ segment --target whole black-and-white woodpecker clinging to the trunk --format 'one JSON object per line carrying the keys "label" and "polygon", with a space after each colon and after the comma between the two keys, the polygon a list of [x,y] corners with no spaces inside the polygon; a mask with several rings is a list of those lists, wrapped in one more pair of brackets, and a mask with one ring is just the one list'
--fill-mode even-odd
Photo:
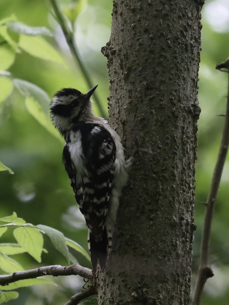
{"label": "whole black-and-white woodpecker clinging to the trunk", "polygon": [[[97,87],[97,86],[96,86]],[[72,88],[58,91],[51,103],[53,124],[65,138],[63,162],[88,227],[93,268],[106,266],[119,197],[127,166],[117,133],[92,112],[90,96]]]}

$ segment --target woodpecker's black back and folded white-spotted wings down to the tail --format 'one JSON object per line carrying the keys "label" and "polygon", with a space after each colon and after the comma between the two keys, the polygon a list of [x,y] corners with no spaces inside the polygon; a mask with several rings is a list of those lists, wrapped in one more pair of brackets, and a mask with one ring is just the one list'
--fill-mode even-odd
{"label": "woodpecker's black back and folded white-spotted wings down to the tail", "polygon": [[[66,142],[63,161],[89,228],[94,267],[97,259],[100,259],[100,265],[103,259],[97,252],[106,252],[107,255],[105,222],[114,178],[116,146],[109,131],[102,126],[84,124],[77,132],[81,135],[78,139],[81,143]],[[97,249],[94,258],[93,248]]]}

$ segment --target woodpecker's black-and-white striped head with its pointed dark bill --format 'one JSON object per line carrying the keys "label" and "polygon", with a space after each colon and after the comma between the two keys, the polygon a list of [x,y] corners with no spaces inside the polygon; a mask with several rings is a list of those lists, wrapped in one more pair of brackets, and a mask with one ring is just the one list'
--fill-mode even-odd
{"label": "woodpecker's black-and-white striped head with its pointed dark bill", "polygon": [[63,88],[53,96],[50,115],[54,126],[62,134],[78,122],[85,122],[93,116],[90,97],[97,86],[85,94],[73,88]]}

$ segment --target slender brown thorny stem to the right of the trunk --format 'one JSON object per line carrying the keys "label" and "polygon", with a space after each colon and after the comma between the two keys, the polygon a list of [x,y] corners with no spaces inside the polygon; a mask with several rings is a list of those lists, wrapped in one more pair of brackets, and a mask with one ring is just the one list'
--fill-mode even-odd
{"label": "slender brown thorny stem to the right of the trunk", "polygon": [[[227,59],[226,62],[216,66],[216,69],[218,70],[221,70],[222,68],[225,68],[227,69],[227,71],[229,71],[229,59]],[[211,224],[212,224],[214,204],[216,201],[220,179],[222,176],[222,171],[227,156],[228,144],[229,144],[229,79],[228,79],[227,109],[225,115],[224,130],[223,130],[218,158],[216,161],[216,166],[213,173],[212,184],[206,202],[207,207],[205,212],[204,228],[203,228],[203,234],[201,240],[200,264],[199,264],[199,270],[198,270],[198,275],[194,290],[193,301],[192,301],[193,305],[200,304],[204,285],[207,279],[214,275],[208,263]]]}

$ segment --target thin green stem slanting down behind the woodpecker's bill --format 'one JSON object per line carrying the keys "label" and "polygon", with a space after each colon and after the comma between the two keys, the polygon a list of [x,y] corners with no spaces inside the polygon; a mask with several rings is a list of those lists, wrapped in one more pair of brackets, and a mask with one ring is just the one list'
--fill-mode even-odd
{"label": "thin green stem slanting down behind the woodpecker's bill", "polygon": [[[77,46],[75,44],[75,40],[74,40],[74,35],[72,33],[72,31],[70,30],[70,28],[68,27],[65,19],[64,19],[64,16],[62,15],[57,3],[56,3],[56,0],[50,0],[50,3],[53,7],[53,11],[54,13],[56,14],[56,19],[58,20],[59,24],[60,24],[60,27],[64,33],[64,37],[67,41],[67,44],[70,48],[70,51],[71,51],[71,54],[73,56],[73,58],[75,59],[76,63],[78,64],[84,78],[85,78],[85,81],[88,85],[88,88],[91,89],[94,87],[93,85],[93,82],[91,80],[91,77],[89,76],[88,72],[86,71],[81,59],[79,58],[79,55],[78,55],[78,49],[77,49]],[[96,94],[96,92],[93,93],[93,98],[100,110],[100,113],[103,117],[106,117],[107,114],[106,112],[104,111],[104,108],[100,102],[100,99],[98,98],[98,95]]]}

